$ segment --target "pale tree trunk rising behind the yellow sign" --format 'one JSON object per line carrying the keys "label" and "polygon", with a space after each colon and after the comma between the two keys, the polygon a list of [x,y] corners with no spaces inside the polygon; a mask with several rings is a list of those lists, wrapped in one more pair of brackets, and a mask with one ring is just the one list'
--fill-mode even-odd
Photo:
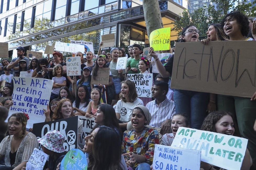
{"label": "pale tree trunk rising behind the yellow sign", "polygon": [[152,31],[163,28],[158,0],[142,0],[146,28],[149,35]]}

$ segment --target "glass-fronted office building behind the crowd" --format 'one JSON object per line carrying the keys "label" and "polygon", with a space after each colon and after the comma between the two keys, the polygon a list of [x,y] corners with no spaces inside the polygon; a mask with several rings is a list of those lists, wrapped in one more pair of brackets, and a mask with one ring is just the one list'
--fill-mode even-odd
{"label": "glass-fronted office building behind the crowd", "polygon": [[[18,46],[44,51],[55,41],[92,41],[98,50],[101,35],[115,33],[116,46],[149,44],[142,0],[0,0],[0,42],[9,54]],[[164,27],[173,27],[187,1],[160,0]],[[171,32],[171,40],[177,32]],[[16,52],[14,52],[16,56]]]}

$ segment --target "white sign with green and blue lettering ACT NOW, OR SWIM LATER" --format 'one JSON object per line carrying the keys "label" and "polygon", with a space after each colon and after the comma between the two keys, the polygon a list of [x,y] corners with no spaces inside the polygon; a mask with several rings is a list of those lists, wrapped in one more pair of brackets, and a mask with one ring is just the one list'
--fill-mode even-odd
{"label": "white sign with green and blue lettering ACT NOW, OR SWIM LATER", "polygon": [[172,147],[201,151],[201,161],[238,170],[242,166],[248,139],[221,133],[179,127]]}

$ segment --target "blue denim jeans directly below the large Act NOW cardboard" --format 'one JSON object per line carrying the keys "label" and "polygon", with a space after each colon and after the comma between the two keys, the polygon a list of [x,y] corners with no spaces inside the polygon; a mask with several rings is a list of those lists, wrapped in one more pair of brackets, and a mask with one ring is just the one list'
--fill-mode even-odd
{"label": "blue denim jeans directly below the large Act NOW cardboard", "polygon": [[201,129],[206,108],[209,102],[209,93],[175,89],[174,104],[176,113],[185,113],[190,117],[191,128]]}

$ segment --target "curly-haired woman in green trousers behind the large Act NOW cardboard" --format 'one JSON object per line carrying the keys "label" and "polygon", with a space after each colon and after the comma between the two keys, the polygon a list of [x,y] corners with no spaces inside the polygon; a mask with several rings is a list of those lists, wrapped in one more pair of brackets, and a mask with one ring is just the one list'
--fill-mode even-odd
{"label": "curly-haired woman in green trousers behind the large Act NOW cardboard", "polygon": [[[227,14],[221,20],[221,27],[224,33],[232,41],[250,41],[247,38],[249,32],[248,18],[241,12]],[[217,109],[229,111],[236,115],[238,129],[243,138],[248,139],[247,148],[252,156],[254,166],[256,167],[256,132],[253,130],[256,119],[256,92],[252,98],[243,98],[237,96],[217,95]]]}

